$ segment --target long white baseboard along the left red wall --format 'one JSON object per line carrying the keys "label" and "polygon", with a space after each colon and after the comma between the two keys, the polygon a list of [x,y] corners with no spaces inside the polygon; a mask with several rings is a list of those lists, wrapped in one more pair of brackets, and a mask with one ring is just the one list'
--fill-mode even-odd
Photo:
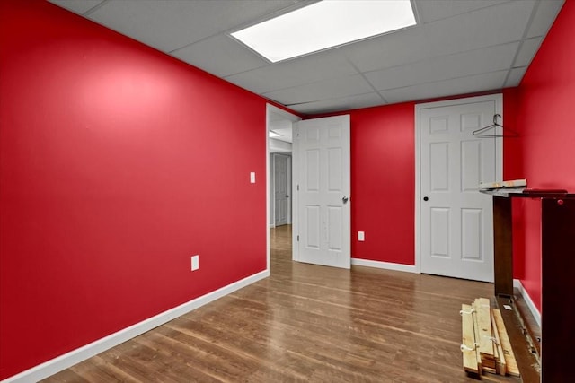
{"label": "long white baseboard along the left red wall", "polygon": [[249,284],[258,282],[268,276],[270,276],[270,270],[264,270],[260,273],[250,275],[240,281],[217,289],[214,292],[208,292],[208,294],[202,295],[195,300],[190,300],[189,302],[183,303],[173,309],[164,311],[155,317],[147,318],[146,320],[133,326],[126,327],[117,333],[105,336],[91,344],[86,344],[74,351],[65,353],[50,361],[46,361],[38,366],[32,367],[30,370],[22,371],[17,375],[13,375],[10,378],[2,380],[2,383],[27,383],[48,378],[61,370],[66,370],[67,368],[74,366],[80,361],[85,361],[98,353],[111,349],[111,347],[124,343],[137,335],[142,335],[152,328],[164,325],[164,323],[167,323],[170,320],[181,317],[194,309],[198,309],[211,301],[222,298],[229,293],[235,292]]}

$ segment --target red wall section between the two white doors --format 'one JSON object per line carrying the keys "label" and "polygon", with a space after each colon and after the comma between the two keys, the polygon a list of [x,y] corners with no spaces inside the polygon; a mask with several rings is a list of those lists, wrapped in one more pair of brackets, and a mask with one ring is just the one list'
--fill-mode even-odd
{"label": "red wall section between the two white doors", "polygon": [[351,257],[414,265],[415,104],[349,114]]}

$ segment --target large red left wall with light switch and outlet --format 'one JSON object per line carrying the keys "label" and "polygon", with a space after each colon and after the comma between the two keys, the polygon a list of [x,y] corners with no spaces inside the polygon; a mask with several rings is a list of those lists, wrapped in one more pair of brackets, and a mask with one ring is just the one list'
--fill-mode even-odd
{"label": "large red left wall with light switch and outlet", "polygon": [[266,268],[265,100],[0,7],[0,379]]}

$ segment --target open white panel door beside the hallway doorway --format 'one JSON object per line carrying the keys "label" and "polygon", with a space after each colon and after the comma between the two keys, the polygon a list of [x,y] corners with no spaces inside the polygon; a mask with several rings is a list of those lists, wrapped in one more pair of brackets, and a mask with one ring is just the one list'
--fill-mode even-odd
{"label": "open white panel door beside the hallway doorway", "polygon": [[298,122],[293,161],[294,259],[349,268],[349,115]]}

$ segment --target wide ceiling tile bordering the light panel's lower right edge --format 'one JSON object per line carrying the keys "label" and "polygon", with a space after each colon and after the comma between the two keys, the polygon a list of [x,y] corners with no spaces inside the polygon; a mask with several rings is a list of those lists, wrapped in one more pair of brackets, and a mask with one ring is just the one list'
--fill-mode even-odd
{"label": "wide ceiling tile bordering the light panel's lower right edge", "polygon": [[340,48],[368,72],[523,38],[535,1],[514,1]]}

